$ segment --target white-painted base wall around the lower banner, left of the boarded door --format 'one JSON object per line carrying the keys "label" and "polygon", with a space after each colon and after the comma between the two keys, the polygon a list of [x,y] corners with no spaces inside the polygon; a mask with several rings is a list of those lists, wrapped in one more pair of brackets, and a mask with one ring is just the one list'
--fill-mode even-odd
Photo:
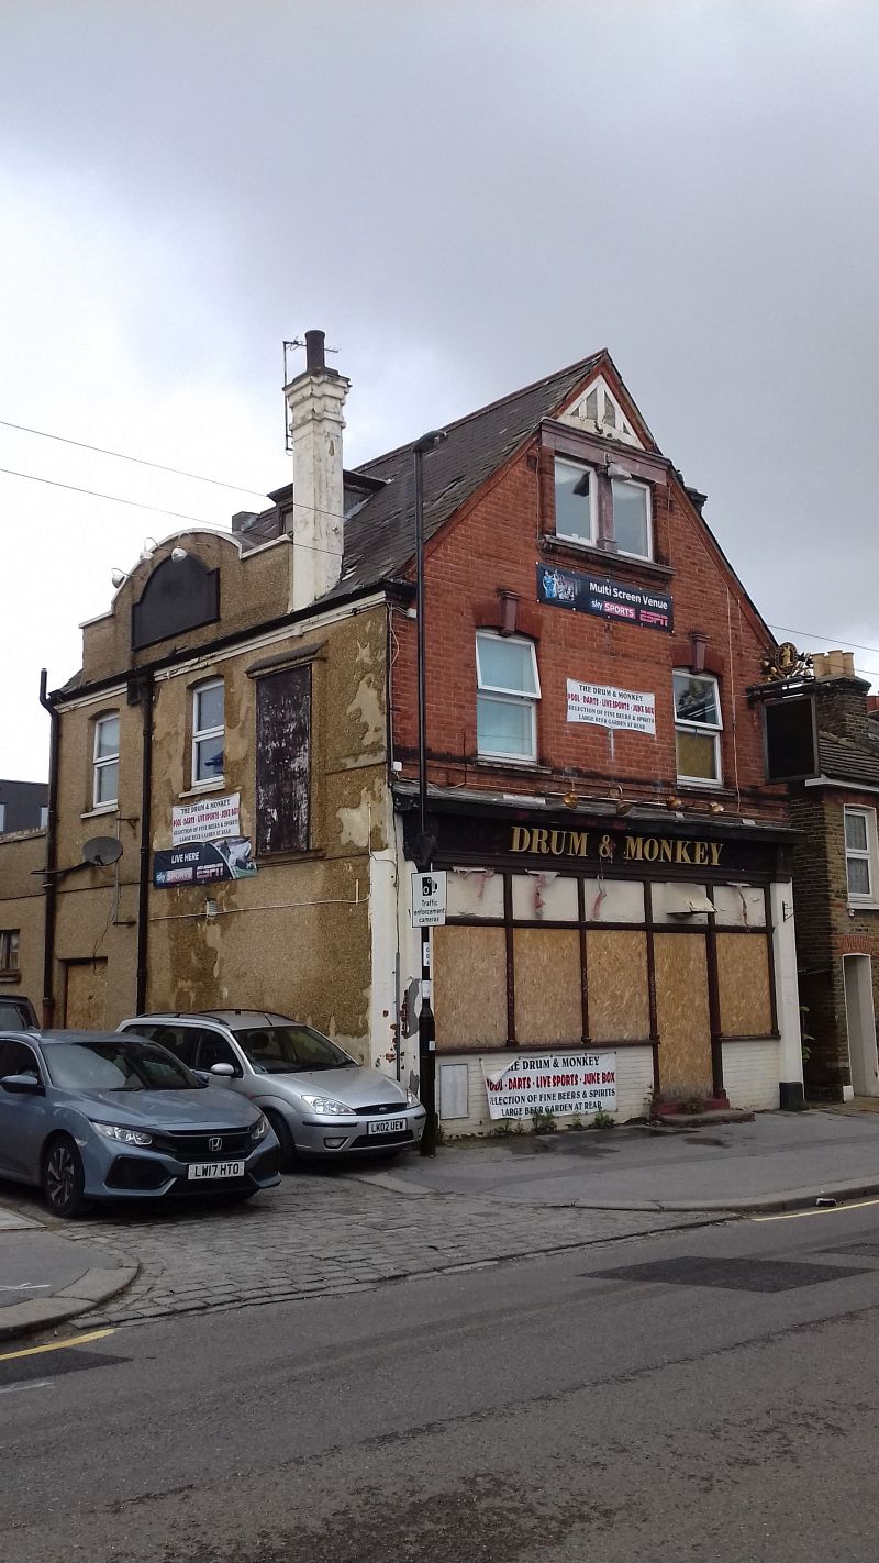
{"label": "white-painted base wall around the lower banner, left of the boarded door", "polygon": [[[603,1043],[600,1050],[617,1055],[617,1111],[614,1118],[618,1124],[625,1124],[629,1118],[643,1118],[653,1089],[653,1050],[649,1047],[614,1049],[607,1043]],[[509,1064],[511,1053],[437,1057],[437,1110],[448,1138],[496,1133],[498,1124],[489,1116],[482,1061],[489,1064],[489,1074],[492,1071],[500,1074]],[[559,1113],[557,1121],[564,1125],[568,1119]],[[585,1114],[582,1122],[589,1122]],[[526,1132],[531,1128],[528,1119],[523,1127]]]}

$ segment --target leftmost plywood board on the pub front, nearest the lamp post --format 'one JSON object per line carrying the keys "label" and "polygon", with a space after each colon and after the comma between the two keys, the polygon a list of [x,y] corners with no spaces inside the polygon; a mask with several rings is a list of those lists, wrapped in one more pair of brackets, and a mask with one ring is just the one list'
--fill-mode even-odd
{"label": "leftmost plywood board on the pub front, nearest the lamp post", "polygon": [[504,930],[437,928],[432,958],[437,1050],[503,1047],[507,1039]]}

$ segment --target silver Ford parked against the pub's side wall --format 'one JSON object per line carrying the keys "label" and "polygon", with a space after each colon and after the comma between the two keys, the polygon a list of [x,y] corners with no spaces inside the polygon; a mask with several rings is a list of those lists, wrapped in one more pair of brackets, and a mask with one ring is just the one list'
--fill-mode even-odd
{"label": "silver Ford parked against the pub's side wall", "polygon": [[119,1030],[159,1043],[211,1083],[254,1102],[278,1136],[287,1171],[297,1155],[368,1157],[422,1138],[426,1114],[412,1091],[284,1014],[137,1014]]}

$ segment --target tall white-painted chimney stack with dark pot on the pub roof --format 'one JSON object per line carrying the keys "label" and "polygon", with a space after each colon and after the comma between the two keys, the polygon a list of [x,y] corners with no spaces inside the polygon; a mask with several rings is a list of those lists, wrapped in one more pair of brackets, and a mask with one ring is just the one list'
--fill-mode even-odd
{"label": "tall white-painted chimney stack with dark pot on the pub roof", "polygon": [[304,341],[304,372],[284,386],[294,441],[294,610],[336,586],[345,542],[342,408],[351,381],[326,367],[323,331],[306,331]]}

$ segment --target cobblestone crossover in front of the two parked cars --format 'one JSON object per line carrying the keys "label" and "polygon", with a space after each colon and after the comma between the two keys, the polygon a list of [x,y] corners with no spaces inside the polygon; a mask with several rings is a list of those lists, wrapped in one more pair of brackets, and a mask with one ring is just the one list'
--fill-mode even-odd
{"label": "cobblestone crossover in front of the two parked cars", "polygon": [[437,1271],[704,1224],[706,1216],[534,1210],[478,1194],[389,1193],[339,1174],[294,1174],[245,1205],[134,1208],[64,1236],[137,1260],[134,1285],[80,1327],[334,1296]]}

